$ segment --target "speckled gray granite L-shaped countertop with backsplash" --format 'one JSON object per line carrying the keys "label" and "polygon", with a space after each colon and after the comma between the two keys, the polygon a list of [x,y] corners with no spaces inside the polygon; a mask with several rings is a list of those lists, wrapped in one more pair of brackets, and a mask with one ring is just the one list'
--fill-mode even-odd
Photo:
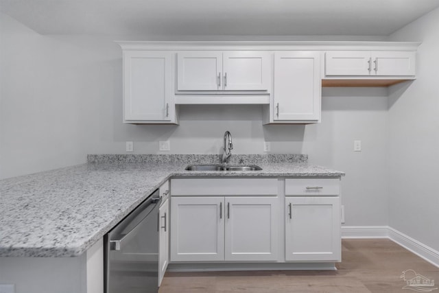
{"label": "speckled gray granite L-shaped countertop with backsplash", "polygon": [[0,180],[0,257],[79,256],[174,176],[344,176],[303,155],[240,158],[263,169],[185,171],[188,162],[216,163],[209,155],[89,155],[83,165]]}

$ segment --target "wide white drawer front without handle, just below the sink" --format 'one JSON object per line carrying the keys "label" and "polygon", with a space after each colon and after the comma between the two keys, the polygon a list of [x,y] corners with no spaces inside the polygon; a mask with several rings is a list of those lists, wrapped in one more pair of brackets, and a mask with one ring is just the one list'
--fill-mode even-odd
{"label": "wide white drawer front without handle, just below the sink", "polygon": [[172,196],[275,196],[277,178],[171,179]]}

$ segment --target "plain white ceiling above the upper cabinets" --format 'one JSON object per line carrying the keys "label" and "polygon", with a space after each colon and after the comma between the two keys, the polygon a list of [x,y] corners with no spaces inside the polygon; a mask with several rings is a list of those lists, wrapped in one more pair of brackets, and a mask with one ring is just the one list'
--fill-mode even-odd
{"label": "plain white ceiling above the upper cabinets", "polygon": [[0,0],[40,34],[388,36],[439,0]]}

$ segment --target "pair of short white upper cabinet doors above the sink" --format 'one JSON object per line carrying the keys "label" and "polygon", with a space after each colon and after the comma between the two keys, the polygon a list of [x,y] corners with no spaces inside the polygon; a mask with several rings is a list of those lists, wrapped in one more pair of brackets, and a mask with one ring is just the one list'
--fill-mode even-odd
{"label": "pair of short white upper cabinet doors above the sink", "polygon": [[181,51],[178,91],[268,91],[271,56],[264,51]]}

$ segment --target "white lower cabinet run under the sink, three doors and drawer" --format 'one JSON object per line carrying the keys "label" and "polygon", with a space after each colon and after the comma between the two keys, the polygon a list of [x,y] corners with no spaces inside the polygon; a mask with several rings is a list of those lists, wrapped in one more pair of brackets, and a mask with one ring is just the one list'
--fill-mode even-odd
{"label": "white lower cabinet run under the sink, three doors and drawer", "polygon": [[340,178],[175,178],[170,212],[174,263],[341,261]]}

